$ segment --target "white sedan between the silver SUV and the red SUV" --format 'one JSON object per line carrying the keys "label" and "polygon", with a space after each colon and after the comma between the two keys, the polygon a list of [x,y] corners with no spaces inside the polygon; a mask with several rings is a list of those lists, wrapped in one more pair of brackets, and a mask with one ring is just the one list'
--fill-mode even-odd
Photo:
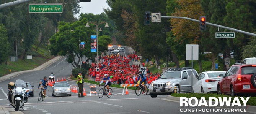
{"label": "white sedan between the silver SUV and the red SUV", "polygon": [[207,71],[202,72],[197,77],[196,84],[193,85],[194,93],[215,93],[217,84],[223,78],[220,74],[225,75],[226,71]]}

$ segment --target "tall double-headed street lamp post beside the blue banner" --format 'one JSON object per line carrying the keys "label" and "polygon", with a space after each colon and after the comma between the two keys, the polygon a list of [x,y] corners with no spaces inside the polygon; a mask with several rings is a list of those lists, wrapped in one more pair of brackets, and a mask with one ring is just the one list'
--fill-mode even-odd
{"label": "tall double-headed street lamp post beside the blue banner", "polygon": [[[105,27],[109,27],[108,26],[108,22],[104,22],[104,21],[88,21],[87,23],[86,23],[86,26],[85,27],[90,27],[89,26],[89,23],[91,23],[91,24],[94,24],[94,25],[96,25],[96,40],[97,40],[97,49],[96,49],[96,51],[97,51],[97,67],[99,67],[99,55],[98,55],[98,25],[100,25],[100,24],[103,24],[103,23],[106,23],[106,25],[105,25]],[[101,31],[101,30],[100,30]]]}

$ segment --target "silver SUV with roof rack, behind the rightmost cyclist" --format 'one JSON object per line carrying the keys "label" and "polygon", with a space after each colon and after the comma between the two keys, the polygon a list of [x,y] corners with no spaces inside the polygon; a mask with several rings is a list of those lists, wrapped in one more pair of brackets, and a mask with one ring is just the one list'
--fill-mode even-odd
{"label": "silver SUV with roof rack, behind the rightmost cyclist", "polygon": [[[150,96],[171,95],[174,93],[174,86],[178,86],[177,93],[190,93],[191,86],[186,79],[192,74],[192,67],[170,68],[166,70],[159,79],[153,81],[150,86]],[[198,76],[193,69],[193,75]]]}

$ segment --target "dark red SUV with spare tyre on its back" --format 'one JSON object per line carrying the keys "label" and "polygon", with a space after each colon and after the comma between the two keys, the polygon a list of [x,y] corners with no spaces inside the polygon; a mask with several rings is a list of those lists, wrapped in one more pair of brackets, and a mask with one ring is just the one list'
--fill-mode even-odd
{"label": "dark red SUV with spare tyre on its back", "polygon": [[236,63],[232,65],[217,85],[218,94],[236,96],[256,95],[256,64]]}

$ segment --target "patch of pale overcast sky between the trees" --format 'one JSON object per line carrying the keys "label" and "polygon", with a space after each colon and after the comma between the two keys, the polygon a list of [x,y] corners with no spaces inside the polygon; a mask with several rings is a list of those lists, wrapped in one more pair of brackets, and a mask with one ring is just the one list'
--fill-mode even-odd
{"label": "patch of pale overcast sky between the trees", "polygon": [[103,8],[108,8],[107,0],[91,0],[91,2],[80,2],[80,13],[101,14]]}

